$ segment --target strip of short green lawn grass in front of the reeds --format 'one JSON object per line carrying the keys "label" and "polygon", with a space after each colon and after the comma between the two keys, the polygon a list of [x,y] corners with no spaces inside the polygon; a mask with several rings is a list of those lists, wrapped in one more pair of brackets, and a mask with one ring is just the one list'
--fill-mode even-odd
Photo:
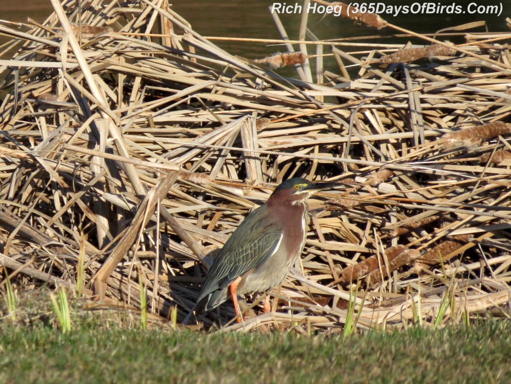
{"label": "strip of short green lawn grass in front of the reeds", "polygon": [[511,324],[339,336],[4,326],[0,382],[508,383]]}

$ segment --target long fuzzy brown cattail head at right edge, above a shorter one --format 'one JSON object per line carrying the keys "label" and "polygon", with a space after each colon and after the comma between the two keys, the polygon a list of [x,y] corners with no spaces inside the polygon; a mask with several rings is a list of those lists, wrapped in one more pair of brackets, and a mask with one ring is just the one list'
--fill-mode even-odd
{"label": "long fuzzy brown cattail head at right edge, above a shorter one", "polygon": [[483,140],[508,133],[511,133],[511,124],[499,121],[449,132],[444,134],[441,140],[445,140],[449,146],[461,143],[466,148],[473,148],[481,144]]}

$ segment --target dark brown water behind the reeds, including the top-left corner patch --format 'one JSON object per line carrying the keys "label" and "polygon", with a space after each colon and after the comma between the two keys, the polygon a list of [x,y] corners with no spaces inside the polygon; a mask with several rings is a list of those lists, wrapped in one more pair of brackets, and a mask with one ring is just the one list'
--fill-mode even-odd
{"label": "dark brown water behind the reeds, including the top-left corner patch", "polygon": [[[273,1],[265,0],[176,0],[172,3],[172,7],[177,13],[191,23],[195,31],[203,36],[280,39],[281,35],[277,31],[269,11],[269,8],[274,3],[275,2]],[[468,6],[471,3],[472,6],[470,11],[477,11],[477,7],[479,7],[478,12],[474,14],[469,13]],[[84,2],[84,4],[86,4],[86,2]],[[289,0],[286,2],[278,2],[276,4],[285,4],[287,6],[294,6],[297,4],[303,6],[303,2],[301,1],[293,2]],[[314,5],[315,3],[312,2],[312,4]],[[437,1],[420,3],[388,0],[386,2],[364,4],[374,4],[374,6],[378,7],[377,9],[380,11],[383,9],[390,10],[391,8],[394,13],[397,13],[397,16],[382,13],[380,14],[381,17],[394,25],[418,33],[434,33],[439,29],[479,20],[486,21],[486,26],[472,29],[470,32],[484,32],[486,29],[490,32],[509,31],[506,28],[505,18],[511,17],[511,0],[503,2],[484,0],[479,2]],[[410,7],[412,4],[415,7],[414,11],[426,6],[429,7],[429,10],[422,8],[422,10],[415,14],[412,14],[410,11],[405,14],[402,10],[397,12],[399,6],[407,5]],[[494,5],[501,7],[501,15],[490,13],[491,9],[488,9],[487,6]],[[441,8],[442,6],[444,6],[444,9]],[[446,8],[447,6],[451,6],[452,8]],[[455,7],[458,7],[458,11],[464,13],[452,14],[451,11],[456,10]],[[0,18],[9,21],[26,21],[27,17],[31,17],[40,22],[44,20],[52,12],[52,10],[53,8],[49,0],[18,0],[17,2],[0,0]],[[309,12],[308,15],[308,28],[319,39],[342,39],[353,36],[381,35],[385,36],[385,38],[364,39],[363,41],[384,44],[406,42],[405,39],[393,38],[392,35],[397,32],[391,28],[377,30],[375,28],[357,24],[352,20],[343,18],[342,16],[336,17],[334,15],[324,15],[317,12]],[[299,13],[280,14],[279,17],[289,35],[289,38],[297,39],[301,15]],[[0,38],[3,38],[3,36],[0,36]],[[456,41],[456,38],[451,38],[451,40],[454,42],[462,41]],[[4,41],[6,41],[5,38],[2,42]],[[412,39],[412,42],[419,42],[419,40]],[[261,42],[216,41],[216,43],[233,54],[251,59],[259,58],[275,52],[286,52],[285,47],[268,46]],[[314,50],[314,48],[311,48],[311,51],[312,50]],[[310,52],[310,54],[314,53],[315,52]]]}

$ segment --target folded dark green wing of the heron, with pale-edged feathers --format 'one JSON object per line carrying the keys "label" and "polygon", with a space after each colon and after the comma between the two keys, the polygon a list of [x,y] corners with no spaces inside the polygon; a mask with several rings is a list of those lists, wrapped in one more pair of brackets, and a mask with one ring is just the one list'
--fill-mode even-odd
{"label": "folded dark green wing of the heron, with pale-edged feathers", "polygon": [[[197,303],[210,295],[218,296],[239,276],[264,264],[281,240],[281,229],[269,219],[266,205],[249,214],[229,237],[210,268]],[[214,301],[207,310],[223,300]]]}

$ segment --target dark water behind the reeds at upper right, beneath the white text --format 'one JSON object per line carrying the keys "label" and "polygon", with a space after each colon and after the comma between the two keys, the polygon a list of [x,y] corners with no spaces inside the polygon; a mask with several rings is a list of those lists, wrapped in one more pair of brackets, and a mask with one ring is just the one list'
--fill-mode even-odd
{"label": "dark water behind the reeds at upper right, beneath the white text", "polygon": [[[286,5],[303,4],[303,2],[281,2]],[[346,2],[347,3],[347,2]],[[280,39],[281,35],[278,33],[275,23],[270,14],[269,8],[273,2],[270,1],[246,1],[237,0],[230,2],[218,2],[217,0],[201,0],[195,2],[175,2],[174,9],[189,22],[192,27],[204,36],[229,36],[229,37],[247,37],[247,38],[267,38],[267,39]],[[314,3],[312,3],[314,4]],[[367,3],[369,4],[369,3]],[[382,6],[394,5],[403,6],[410,5],[410,2],[392,2],[385,3],[379,2],[380,9]],[[422,3],[418,3],[422,4]],[[429,4],[429,3],[428,3]],[[438,4],[449,5],[452,2],[432,2]],[[460,4],[470,4],[464,2]],[[482,1],[478,5],[488,6],[498,4],[495,1]],[[304,8],[303,8],[304,9]],[[394,8],[396,10],[396,8]],[[437,30],[453,27],[468,22],[485,20],[487,22],[487,29],[492,32],[509,31],[506,27],[505,17],[511,16],[511,1],[503,3],[503,12],[501,16],[484,14],[469,14],[466,8],[462,8],[466,13],[464,14],[447,14],[447,9],[444,9],[444,14],[403,14],[397,16],[382,14],[381,17],[388,22],[400,26],[405,29],[412,30],[417,33],[435,33]],[[280,14],[282,24],[284,25],[290,39],[298,39],[298,31],[300,25],[299,14]],[[393,35],[396,31],[390,28],[383,28],[377,30],[376,28],[360,25],[353,20],[345,19],[342,16],[335,17],[333,15],[322,15],[309,13],[309,20],[307,23],[308,28],[319,39],[343,39],[354,36],[373,36],[381,35],[386,36],[383,39],[364,40],[370,42],[382,43],[406,43],[406,40],[396,39]],[[479,27],[471,31],[484,32],[484,27]],[[418,39],[413,40],[414,43],[424,43]],[[454,42],[462,42],[461,40]],[[239,43],[239,42],[224,42],[217,41],[217,44],[229,50],[231,53],[241,55],[247,58],[258,58],[265,54],[271,54],[277,51],[285,52],[284,47],[266,46],[264,43]]]}

